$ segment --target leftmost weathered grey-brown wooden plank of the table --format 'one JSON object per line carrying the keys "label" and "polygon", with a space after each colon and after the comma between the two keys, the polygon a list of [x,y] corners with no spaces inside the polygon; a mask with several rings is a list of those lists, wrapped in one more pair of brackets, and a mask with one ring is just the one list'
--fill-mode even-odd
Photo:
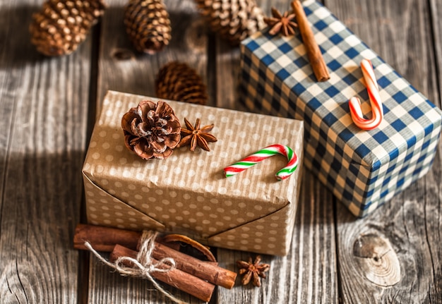
{"label": "leftmost weathered grey-brown wooden plank of the table", "polygon": [[[36,4],[35,2],[38,2]],[[0,302],[77,303],[90,39],[47,58],[30,44],[41,1],[0,4]]]}

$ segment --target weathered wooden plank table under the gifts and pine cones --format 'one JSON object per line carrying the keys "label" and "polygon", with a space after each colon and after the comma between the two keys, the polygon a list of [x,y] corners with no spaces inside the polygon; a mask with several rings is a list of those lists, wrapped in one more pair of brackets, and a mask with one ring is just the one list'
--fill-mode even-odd
{"label": "weathered wooden plank table under the gifts and pine cones", "polygon": [[[324,2],[441,107],[442,1]],[[30,44],[42,0],[0,3],[0,303],[169,303],[149,282],[72,248],[73,229],[85,221],[80,170],[100,101],[109,89],[154,96],[160,66],[179,60],[203,76],[210,105],[240,109],[239,49],[208,32],[193,1],[166,1],[173,39],[155,56],[133,51],[126,1],[107,3],[85,43],[59,58]],[[259,3],[266,13],[289,8],[288,0]],[[429,174],[364,219],[306,171],[289,255],[263,256],[271,270],[262,288],[217,288],[211,303],[442,303],[441,146]],[[234,271],[249,256],[215,253]]]}

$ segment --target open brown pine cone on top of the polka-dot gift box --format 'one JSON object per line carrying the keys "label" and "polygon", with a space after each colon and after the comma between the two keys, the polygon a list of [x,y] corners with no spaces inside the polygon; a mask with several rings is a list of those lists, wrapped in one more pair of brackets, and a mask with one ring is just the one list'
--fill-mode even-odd
{"label": "open brown pine cone on top of the polka-dot gift box", "polygon": [[124,141],[143,159],[165,159],[181,139],[181,124],[166,102],[145,100],[121,119]]}

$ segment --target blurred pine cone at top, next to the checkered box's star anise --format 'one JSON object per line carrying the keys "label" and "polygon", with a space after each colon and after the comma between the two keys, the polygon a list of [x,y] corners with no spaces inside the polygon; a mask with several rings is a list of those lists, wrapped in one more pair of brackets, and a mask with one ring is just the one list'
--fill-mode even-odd
{"label": "blurred pine cone at top, next to the checkered box's star anise", "polygon": [[195,0],[213,32],[237,45],[265,28],[264,13],[255,0]]}

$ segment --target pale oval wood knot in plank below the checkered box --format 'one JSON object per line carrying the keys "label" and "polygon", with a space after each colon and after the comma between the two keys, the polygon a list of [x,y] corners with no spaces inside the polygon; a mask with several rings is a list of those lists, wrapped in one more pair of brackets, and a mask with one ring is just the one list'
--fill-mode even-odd
{"label": "pale oval wood knot in plank below the checkered box", "polygon": [[376,233],[359,236],[353,244],[353,255],[364,276],[372,283],[388,287],[400,281],[398,256],[386,238]]}

